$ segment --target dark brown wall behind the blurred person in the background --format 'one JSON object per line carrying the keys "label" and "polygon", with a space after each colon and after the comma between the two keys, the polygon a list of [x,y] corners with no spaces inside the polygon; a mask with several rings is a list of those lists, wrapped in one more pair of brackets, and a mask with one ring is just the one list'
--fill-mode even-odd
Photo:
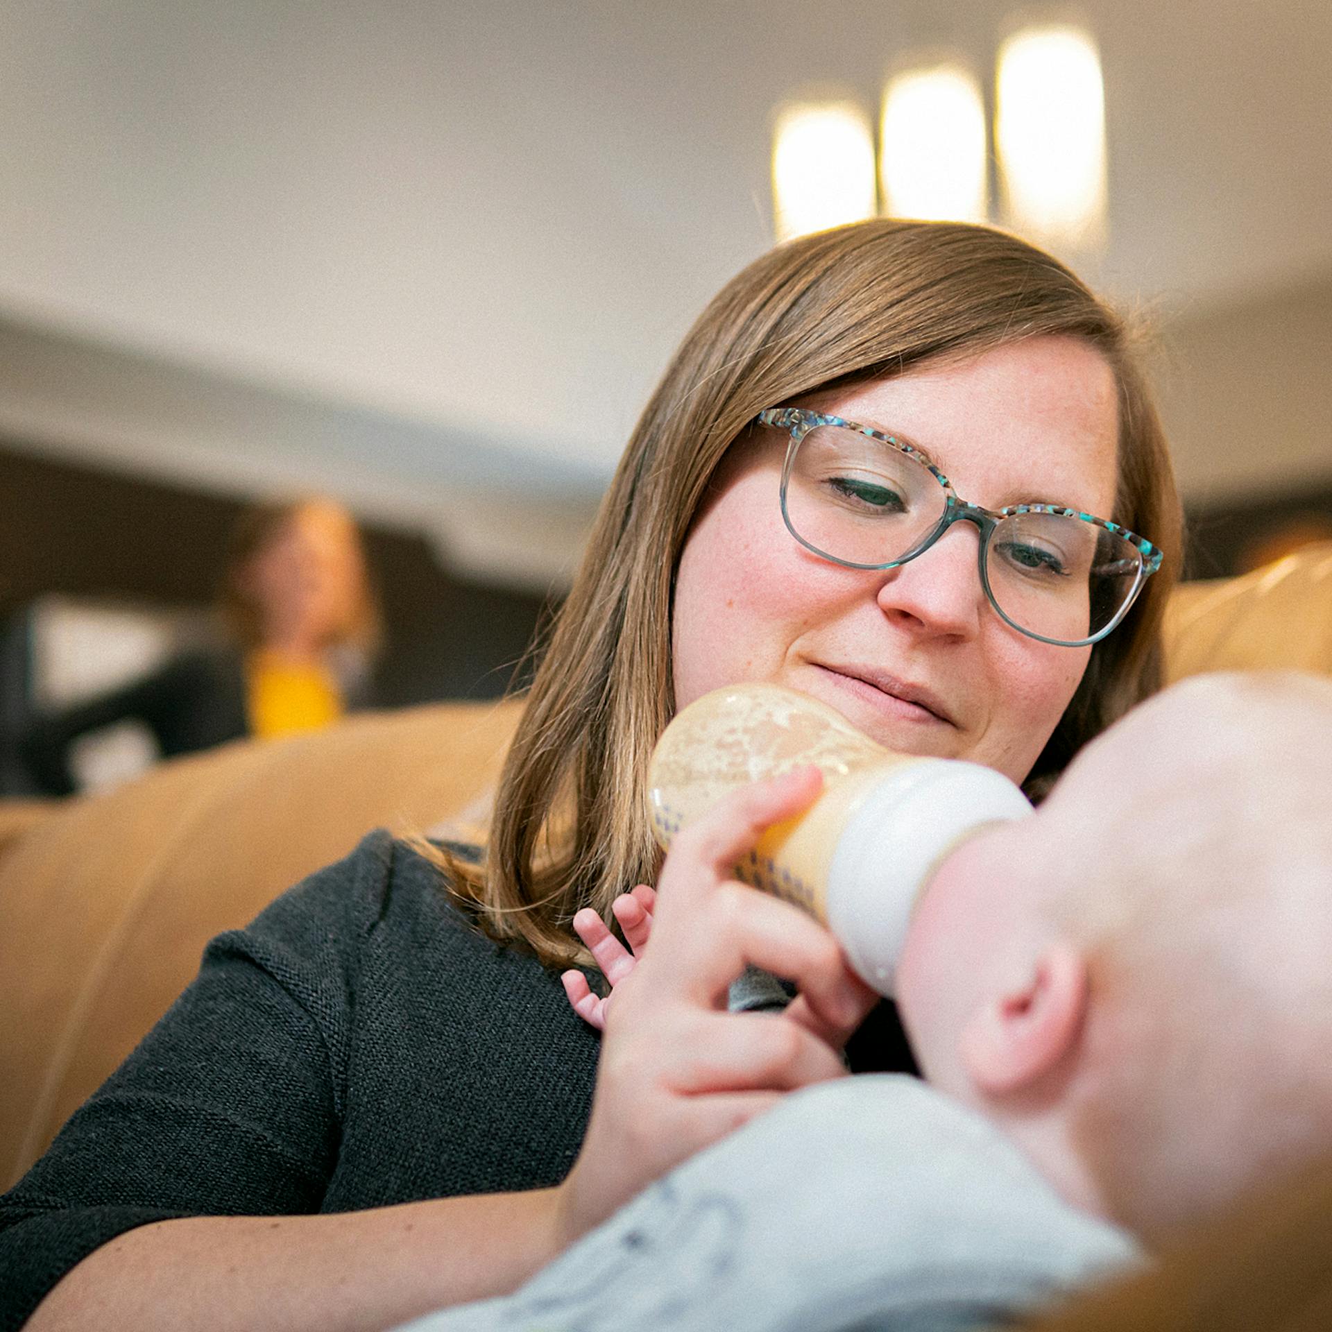
{"label": "dark brown wall behind the blurred person in the background", "polygon": [[[210,602],[244,507],[0,442],[0,614],[45,593]],[[543,599],[450,578],[421,537],[366,527],[365,539],[384,605],[384,702],[502,694]]]}

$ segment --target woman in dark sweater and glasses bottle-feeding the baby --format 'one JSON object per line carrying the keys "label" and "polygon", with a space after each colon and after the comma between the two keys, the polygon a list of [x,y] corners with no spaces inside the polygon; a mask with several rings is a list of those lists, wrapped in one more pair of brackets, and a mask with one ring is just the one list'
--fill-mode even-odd
{"label": "woman in dark sweater and glasses bottle-feeding the baby", "polygon": [[[875,438],[895,432],[914,444]],[[851,436],[874,448],[850,450]],[[370,838],[214,940],[5,1199],[11,1319],[55,1285],[32,1328],[392,1325],[515,1285],[774,1095],[838,1075],[863,987],[813,922],[723,883],[759,827],[813,797],[795,778],[741,793],[671,855],[663,899],[687,910],[654,927],[638,1020],[613,1024],[589,1124],[598,1042],[550,968],[586,960],[578,908],[605,912],[658,878],[639,787],[674,707],[775,679],[886,743],[978,758],[1035,790],[1155,687],[1173,575],[1167,558],[1095,646],[1056,646],[1067,623],[1015,599],[999,561],[1054,571],[1055,587],[1080,574],[1083,627],[1090,615],[1104,630],[1142,581],[1140,546],[1111,545],[1123,567],[1106,566],[1107,586],[1131,577],[1094,610],[1080,527],[1055,567],[1039,531],[960,505],[939,510],[963,521],[915,558],[864,567],[912,551],[866,559],[819,526],[826,506],[801,501],[906,511],[866,461],[884,456],[944,497],[946,466],[987,510],[1111,514],[1177,549],[1164,441],[1124,333],[1048,256],[984,228],[874,221],[758,260],[686,337],[629,444],[485,856],[441,854],[450,902],[421,854]],[[936,502],[928,486],[922,503]],[[746,963],[801,998],[726,1012]],[[895,1030],[891,1010],[876,1019],[880,1036]]]}

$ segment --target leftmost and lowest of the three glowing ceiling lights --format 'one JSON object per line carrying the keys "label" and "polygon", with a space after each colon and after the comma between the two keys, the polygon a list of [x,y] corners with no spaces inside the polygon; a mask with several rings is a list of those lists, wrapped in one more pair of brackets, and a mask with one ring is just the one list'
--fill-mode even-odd
{"label": "leftmost and lowest of the three glowing ceiling lights", "polygon": [[874,217],[874,132],[851,101],[793,103],[773,132],[777,238]]}

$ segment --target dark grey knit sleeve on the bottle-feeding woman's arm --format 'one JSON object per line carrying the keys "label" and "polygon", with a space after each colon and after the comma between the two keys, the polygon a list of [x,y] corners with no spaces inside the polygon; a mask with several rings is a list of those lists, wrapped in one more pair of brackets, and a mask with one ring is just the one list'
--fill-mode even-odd
{"label": "dark grey knit sleeve on the bottle-feeding woman's arm", "polygon": [[182,1216],[318,1211],[345,1096],[360,943],[392,842],[218,935],[194,982],[0,1197],[0,1332],[88,1253]]}

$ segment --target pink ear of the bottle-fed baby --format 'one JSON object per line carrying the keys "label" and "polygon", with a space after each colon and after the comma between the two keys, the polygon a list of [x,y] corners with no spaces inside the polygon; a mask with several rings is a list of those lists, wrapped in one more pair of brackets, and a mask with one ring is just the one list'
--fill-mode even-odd
{"label": "pink ear of the bottle-fed baby", "polygon": [[1031,974],[972,1012],[958,1043],[967,1076],[987,1096],[1035,1086],[1078,1044],[1087,1011],[1087,962],[1055,943]]}

